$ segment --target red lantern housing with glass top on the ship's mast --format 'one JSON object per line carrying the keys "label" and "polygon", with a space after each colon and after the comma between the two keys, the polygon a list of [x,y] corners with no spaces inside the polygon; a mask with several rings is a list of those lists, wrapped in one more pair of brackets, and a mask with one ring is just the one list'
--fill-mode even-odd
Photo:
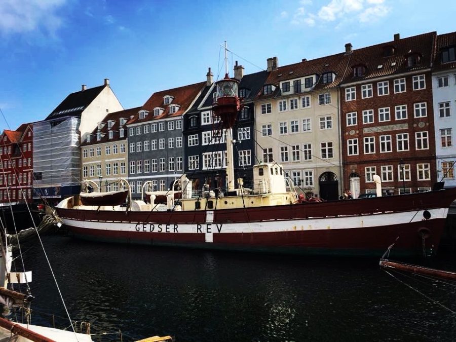
{"label": "red lantern housing with glass top on the ship's mast", "polygon": [[232,128],[238,117],[238,112],[242,109],[241,99],[238,96],[239,81],[230,79],[226,73],[225,78],[215,84],[217,96],[214,99],[212,111],[214,115],[220,117],[223,128]]}

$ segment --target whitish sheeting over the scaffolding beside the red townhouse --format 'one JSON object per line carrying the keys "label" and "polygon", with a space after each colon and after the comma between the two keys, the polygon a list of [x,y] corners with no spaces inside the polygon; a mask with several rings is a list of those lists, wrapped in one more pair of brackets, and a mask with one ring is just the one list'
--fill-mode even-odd
{"label": "whitish sheeting over the scaffolding beside the red townhouse", "polygon": [[33,187],[80,184],[80,123],[66,117],[33,125]]}

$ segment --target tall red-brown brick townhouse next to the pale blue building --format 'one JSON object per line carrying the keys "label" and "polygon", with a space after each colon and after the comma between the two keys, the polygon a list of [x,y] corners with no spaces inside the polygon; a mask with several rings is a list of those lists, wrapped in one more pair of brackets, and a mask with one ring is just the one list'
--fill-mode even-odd
{"label": "tall red-brown brick townhouse next to the pale blue building", "polygon": [[[436,32],[352,51],[340,85],[344,183],[356,195],[425,191],[436,179],[432,54]],[[348,185],[350,184],[350,185]]]}

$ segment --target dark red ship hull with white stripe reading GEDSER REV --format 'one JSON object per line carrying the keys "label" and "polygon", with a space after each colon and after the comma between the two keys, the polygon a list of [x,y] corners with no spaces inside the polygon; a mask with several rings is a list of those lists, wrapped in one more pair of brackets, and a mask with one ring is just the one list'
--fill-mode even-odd
{"label": "dark red ship hull with white stripe reading GEDSER REV", "polygon": [[139,212],[57,207],[69,232],[109,242],[290,253],[436,252],[456,189],[246,209]]}

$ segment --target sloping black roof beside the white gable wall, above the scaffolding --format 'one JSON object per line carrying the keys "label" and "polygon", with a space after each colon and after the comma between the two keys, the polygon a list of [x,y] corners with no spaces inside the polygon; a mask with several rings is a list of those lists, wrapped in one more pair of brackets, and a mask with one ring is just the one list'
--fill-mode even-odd
{"label": "sloping black roof beside the white gable wall, above the scaffolding", "polygon": [[69,94],[45,120],[66,116],[80,116],[84,109],[101,93],[106,85]]}

